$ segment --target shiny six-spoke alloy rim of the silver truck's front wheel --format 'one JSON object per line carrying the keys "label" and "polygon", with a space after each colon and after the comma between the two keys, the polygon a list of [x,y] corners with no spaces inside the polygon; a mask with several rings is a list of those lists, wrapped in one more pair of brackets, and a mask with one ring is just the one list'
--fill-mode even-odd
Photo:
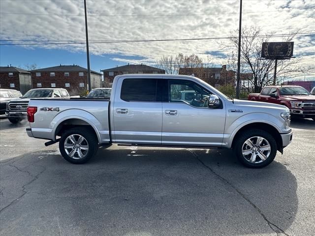
{"label": "shiny six-spoke alloy rim of the silver truck's front wheel", "polygon": [[245,141],[242,147],[243,157],[254,164],[265,161],[271,152],[269,142],[263,137],[255,136]]}

